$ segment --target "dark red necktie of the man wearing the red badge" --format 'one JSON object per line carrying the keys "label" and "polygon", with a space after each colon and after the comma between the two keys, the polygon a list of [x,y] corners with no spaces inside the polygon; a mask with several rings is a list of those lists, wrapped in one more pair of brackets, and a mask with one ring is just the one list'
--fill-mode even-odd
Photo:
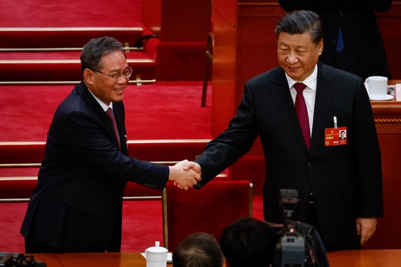
{"label": "dark red necktie of the man wearing the red badge", "polygon": [[305,144],[309,150],[309,147],[311,146],[311,131],[309,129],[307,105],[305,104],[305,98],[302,95],[302,91],[305,89],[305,87],[307,87],[307,85],[303,83],[294,84],[294,88],[296,89],[295,110],[296,114],[298,115],[302,136],[304,137]]}

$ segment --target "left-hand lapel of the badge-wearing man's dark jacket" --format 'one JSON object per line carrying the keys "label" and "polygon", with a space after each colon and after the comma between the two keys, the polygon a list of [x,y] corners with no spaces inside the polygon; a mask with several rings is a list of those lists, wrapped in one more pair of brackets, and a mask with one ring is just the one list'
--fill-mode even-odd
{"label": "left-hand lapel of the badge-wearing man's dark jacket", "polygon": [[293,134],[294,139],[298,142],[302,151],[308,153],[305,140],[302,137],[302,131],[300,129],[298,116],[296,115],[294,102],[291,98],[291,93],[289,92],[287,78],[285,78],[285,72],[280,68],[278,75],[276,75],[276,78],[271,82],[273,83],[271,94],[282,114],[282,118],[284,118],[289,127],[289,131]]}

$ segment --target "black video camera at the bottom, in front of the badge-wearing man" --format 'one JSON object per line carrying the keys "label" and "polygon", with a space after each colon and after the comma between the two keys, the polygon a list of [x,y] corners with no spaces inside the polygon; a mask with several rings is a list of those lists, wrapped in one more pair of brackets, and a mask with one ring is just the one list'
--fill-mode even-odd
{"label": "black video camera at the bottom, in front of the badge-wearing man", "polygon": [[279,200],[284,212],[284,224],[274,252],[274,267],[328,267],[325,246],[316,228],[294,221],[298,191],[280,189]]}

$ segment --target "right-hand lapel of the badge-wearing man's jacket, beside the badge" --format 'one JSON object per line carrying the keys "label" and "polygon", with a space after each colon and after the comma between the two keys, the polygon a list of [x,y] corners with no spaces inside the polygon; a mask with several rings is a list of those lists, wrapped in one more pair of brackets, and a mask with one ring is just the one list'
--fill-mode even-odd
{"label": "right-hand lapel of the badge-wearing man's jacket, beside the badge", "polygon": [[[329,72],[325,72],[324,66],[318,63],[318,81],[316,85],[315,110],[313,111],[313,127],[311,136],[311,148],[316,149],[318,142],[322,142],[321,136],[325,135],[325,122],[333,103],[336,86],[331,83],[333,77]],[[331,118],[333,120],[333,118]],[[324,138],[323,138],[324,140]],[[322,145],[322,144],[320,144]]]}

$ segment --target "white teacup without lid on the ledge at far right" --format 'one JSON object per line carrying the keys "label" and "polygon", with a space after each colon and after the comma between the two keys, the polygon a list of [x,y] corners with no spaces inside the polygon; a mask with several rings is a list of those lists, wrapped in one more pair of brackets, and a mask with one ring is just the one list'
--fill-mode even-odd
{"label": "white teacup without lid on the ledge at far right", "polygon": [[387,94],[389,87],[394,85],[387,85],[389,79],[384,76],[370,76],[365,80],[365,87],[371,100],[390,100],[394,96]]}

